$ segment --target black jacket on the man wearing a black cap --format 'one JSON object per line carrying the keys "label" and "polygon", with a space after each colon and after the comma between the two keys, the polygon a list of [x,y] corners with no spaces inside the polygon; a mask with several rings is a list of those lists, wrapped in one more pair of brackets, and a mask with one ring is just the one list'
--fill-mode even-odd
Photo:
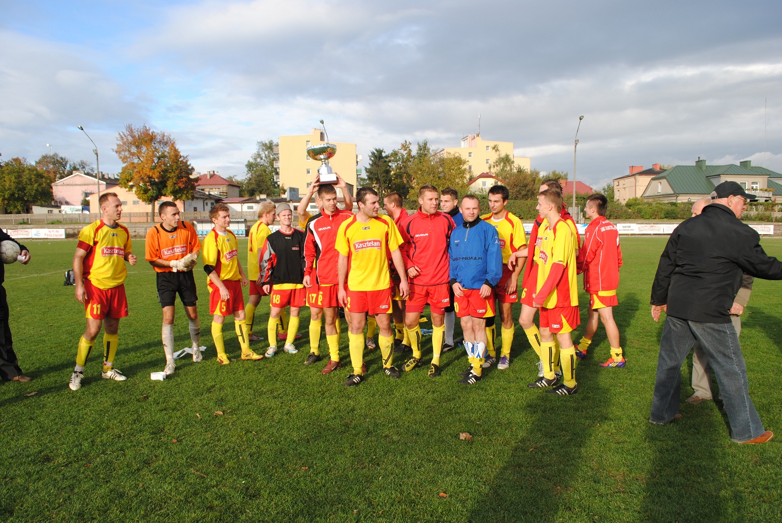
{"label": "black jacket on the man wearing a black cap", "polygon": [[742,272],[782,280],[782,263],[766,255],[758,233],[718,203],[705,206],[671,234],[651,286],[651,304],[669,316],[729,323]]}

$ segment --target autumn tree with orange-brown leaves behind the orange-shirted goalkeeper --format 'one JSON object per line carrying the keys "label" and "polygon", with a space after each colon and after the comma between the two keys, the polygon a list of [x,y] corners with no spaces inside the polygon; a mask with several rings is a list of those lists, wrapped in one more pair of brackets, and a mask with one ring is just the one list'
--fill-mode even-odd
{"label": "autumn tree with orange-brown leaves behind the orange-shirted goalkeeper", "polygon": [[152,206],[163,196],[174,200],[192,199],[195,180],[193,167],[187,156],[177,148],[169,134],[152,131],[149,127],[125,125],[117,135],[114,152],[123,163],[120,187],[132,189],[138,199]]}

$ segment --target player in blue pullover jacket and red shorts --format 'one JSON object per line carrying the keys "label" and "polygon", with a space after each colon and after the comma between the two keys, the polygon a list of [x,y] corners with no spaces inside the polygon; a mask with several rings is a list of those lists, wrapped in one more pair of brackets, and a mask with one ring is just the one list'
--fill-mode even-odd
{"label": "player in blue pullover jacket and red shorts", "polygon": [[[461,199],[464,222],[450,235],[450,285],[456,296],[465,350],[470,362],[459,383],[474,385],[482,377],[486,358],[486,318],[494,315],[494,288],[502,277],[502,251],[497,231],[479,217],[473,195]],[[472,340],[472,341],[468,341]]]}

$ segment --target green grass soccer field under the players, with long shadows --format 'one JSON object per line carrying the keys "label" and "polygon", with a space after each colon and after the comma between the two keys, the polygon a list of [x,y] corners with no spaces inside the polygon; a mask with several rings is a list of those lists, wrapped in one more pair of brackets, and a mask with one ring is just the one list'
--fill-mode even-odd
{"label": "green grass soccer field under the players, with long shadows", "polygon": [[[32,262],[6,267],[5,288],[15,349],[34,381],[0,384],[2,521],[782,521],[782,432],[738,446],[714,402],[683,403],[683,419],[664,427],[647,422],[662,332],[648,302],[664,238],[622,238],[615,316],[629,363],[597,366],[608,358],[598,331],[572,397],[526,388],[536,356],[518,327],[510,369],[473,386],[456,383],[467,365],[457,350],[436,379],[422,368],[391,380],[379,351],[367,353],[368,379],[350,389],[345,369],[304,367],[303,342],[296,355],[221,367],[200,266],[205,359],[179,360],[170,379],[152,382],[165,360],[143,261],[130,267],[131,316],[120,323],[116,365],[127,381],[100,378],[96,349],[71,392],[84,331],[74,288],[63,287],[75,242],[27,245]],[[763,245],[782,256],[782,241]],[[264,299],[264,338],[267,317]],[[778,431],[780,317],[780,283],[756,281],[741,342],[755,406]],[[175,332],[176,348],[188,346],[181,305]],[[225,336],[238,357],[230,321]],[[341,352],[348,361],[345,335]]]}

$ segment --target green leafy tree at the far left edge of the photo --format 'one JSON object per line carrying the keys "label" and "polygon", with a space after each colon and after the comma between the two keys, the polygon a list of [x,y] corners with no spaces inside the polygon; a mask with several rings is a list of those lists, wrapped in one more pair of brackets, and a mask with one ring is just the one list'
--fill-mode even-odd
{"label": "green leafy tree at the far left edge of the photo", "polygon": [[52,177],[24,158],[0,166],[0,204],[6,212],[25,213],[31,205],[52,203]]}

